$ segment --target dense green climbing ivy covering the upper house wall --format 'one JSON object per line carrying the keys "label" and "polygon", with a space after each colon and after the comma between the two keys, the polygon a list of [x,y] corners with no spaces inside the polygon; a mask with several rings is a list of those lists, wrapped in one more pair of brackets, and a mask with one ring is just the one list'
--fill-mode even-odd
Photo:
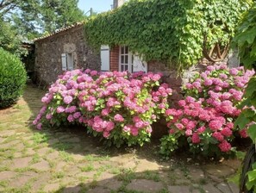
{"label": "dense green climbing ivy covering the upper house wall", "polygon": [[251,0],[130,0],[91,18],[85,35],[91,46],[128,45],[145,60],[188,67],[208,47],[227,44]]}

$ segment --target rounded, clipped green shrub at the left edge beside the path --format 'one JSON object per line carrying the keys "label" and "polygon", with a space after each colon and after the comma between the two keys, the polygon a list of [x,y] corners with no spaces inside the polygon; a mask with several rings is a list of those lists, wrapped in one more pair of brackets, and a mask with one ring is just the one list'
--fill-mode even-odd
{"label": "rounded, clipped green shrub at the left edge beside the path", "polygon": [[22,95],[27,80],[21,60],[0,48],[0,108],[8,107]]}

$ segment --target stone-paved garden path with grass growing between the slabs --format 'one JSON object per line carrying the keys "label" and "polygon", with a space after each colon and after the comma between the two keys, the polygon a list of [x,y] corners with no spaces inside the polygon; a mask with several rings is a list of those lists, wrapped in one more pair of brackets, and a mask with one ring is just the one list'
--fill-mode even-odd
{"label": "stone-paved garden path with grass growing between the slabs", "polygon": [[228,182],[237,159],[162,161],[156,143],[108,150],[83,128],[34,129],[43,94],[28,85],[16,105],[0,110],[0,192],[238,192]]}

